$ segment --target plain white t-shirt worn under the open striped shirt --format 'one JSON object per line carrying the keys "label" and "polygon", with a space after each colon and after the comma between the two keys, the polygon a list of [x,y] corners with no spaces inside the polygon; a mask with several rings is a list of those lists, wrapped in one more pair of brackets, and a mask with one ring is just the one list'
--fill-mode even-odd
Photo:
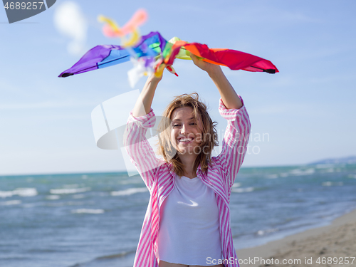
{"label": "plain white t-shirt worn under the open striped shirt", "polygon": [[176,175],[174,185],[159,214],[158,258],[169,263],[209,266],[206,258],[221,259],[215,193],[199,177]]}

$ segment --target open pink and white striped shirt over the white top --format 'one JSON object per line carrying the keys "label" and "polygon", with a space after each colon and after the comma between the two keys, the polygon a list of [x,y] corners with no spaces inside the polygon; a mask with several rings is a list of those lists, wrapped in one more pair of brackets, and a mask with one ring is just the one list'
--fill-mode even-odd
{"label": "open pink and white striped shirt over the white top", "polygon": [[[211,157],[211,164],[205,173],[201,171],[199,165],[197,177],[216,194],[223,263],[226,267],[232,267],[239,266],[239,263],[230,226],[231,187],[244,161],[251,124],[245,105],[239,110],[228,110],[220,99],[219,112],[228,121],[221,153],[217,157]],[[142,117],[133,117],[131,112],[125,130],[126,151],[150,191],[150,201],[142,225],[134,267],[158,267],[156,255],[159,209],[174,188],[175,174],[172,163],[158,159],[145,137],[147,129],[153,127],[155,121],[152,109]]]}

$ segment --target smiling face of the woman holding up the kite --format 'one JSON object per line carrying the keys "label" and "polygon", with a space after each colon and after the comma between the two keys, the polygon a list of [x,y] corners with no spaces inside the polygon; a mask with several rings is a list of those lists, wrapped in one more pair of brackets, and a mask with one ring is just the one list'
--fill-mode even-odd
{"label": "smiling face of the woman holding up the kite", "polygon": [[[171,140],[179,154],[198,155],[200,153],[199,144],[202,140],[202,125],[200,120],[195,120],[193,108],[175,109],[172,112],[171,120]],[[197,147],[196,150],[194,150],[195,147]]]}

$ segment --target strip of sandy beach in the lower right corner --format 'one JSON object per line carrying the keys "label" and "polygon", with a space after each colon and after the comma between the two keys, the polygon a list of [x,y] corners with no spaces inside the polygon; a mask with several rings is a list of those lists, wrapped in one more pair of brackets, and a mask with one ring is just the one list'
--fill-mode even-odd
{"label": "strip of sandy beach in the lower right corner", "polygon": [[[356,209],[335,219],[328,226],[309,229],[262,246],[240,249],[236,253],[239,261],[244,261],[240,264],[240,267],[356,267]],[[256,261],[253,261],[254,257],[258,257],[258,261],[257,258]],[[265,261],[261,261],[261,258]],[[268,258],[269,261],[267,261]],[[271,261],[272,258],[273,261]],[[318,259],[320,263],[317,262]],[[348,264],[347,261],[349,261]]]}

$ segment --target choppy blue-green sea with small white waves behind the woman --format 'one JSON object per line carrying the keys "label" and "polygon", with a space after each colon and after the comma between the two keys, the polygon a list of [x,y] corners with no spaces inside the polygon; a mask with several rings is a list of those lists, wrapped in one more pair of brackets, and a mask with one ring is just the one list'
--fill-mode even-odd
{"label": "choppy blue-green sea with small white waves behind the woman", "polygon": [[[0,266],[132,266],[149,197],[126,172],[0,176]],[[356,164],[241,168],[230,208],[236,249],[330,224]]]}

